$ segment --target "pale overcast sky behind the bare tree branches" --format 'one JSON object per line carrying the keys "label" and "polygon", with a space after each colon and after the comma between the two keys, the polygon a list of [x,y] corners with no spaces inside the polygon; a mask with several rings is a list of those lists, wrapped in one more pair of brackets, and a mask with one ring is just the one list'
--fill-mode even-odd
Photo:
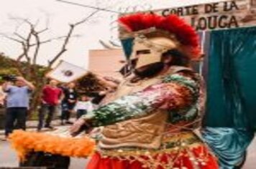
{"label": "pale overcast sky behind the bare tree branches", "polygon": [[[175,6],[202,4],[221,0],[67,0],[79,4],[108,8],[113,11],[137,11],[147,9],[165,9]],[[38,23],[37,29],[48,27],[42,35],[42,40],[52,39],[66,35],[69,24],[81,21],[95,9],[74,6],[61,3],[56,0],[0,0],[0,34],[11,36],[15,31],[25,36],[27,27],[20,21],[12,18],[28,19],[32,23]],[[117,14],[100,11],[88,22],[76,27],[74,34],[78,37],[70,39],[68,51],[61,59],[76,64],[80,67],[88,67],[88,50],[104,49],[99,39],[109,42],[116,39]],[[63,41],[55,40],[43,44],[40,49],[38,64],[47,64],[60,51]],[[12,40],[0,36],[0,52],[9,57],[16,58],[21,54],[21,45]]]}

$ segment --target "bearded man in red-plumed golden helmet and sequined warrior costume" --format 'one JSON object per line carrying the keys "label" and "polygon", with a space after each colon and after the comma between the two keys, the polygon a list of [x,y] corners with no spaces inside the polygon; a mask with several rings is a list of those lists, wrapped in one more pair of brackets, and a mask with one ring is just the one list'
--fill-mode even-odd
{"label": "bearded man in red-plumed golden helmet and sequined warrior costume", "polygon": [[132,39],[134,72],[108,103],[70,128],[104,126],[89,169],[215,169],[216,158],[194,130],[201,125],[204,85],[189,68],[198,36],[178,16],[122,16],[122,39]]}

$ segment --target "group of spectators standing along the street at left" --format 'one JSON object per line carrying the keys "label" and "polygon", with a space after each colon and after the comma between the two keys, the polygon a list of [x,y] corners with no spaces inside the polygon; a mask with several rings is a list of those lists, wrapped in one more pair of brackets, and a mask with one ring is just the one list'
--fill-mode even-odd
{"label": "group of spectators standing along the street at left", "polygon": [[[84,93],[78,93],[76,83],[61,84],[54,79],[42,88],[40,108],[38,113],[37,131],[43,127],[53,130],[52,120],[60,117],[60,125],[72,125],[70,117],[77,119],[86,115],[98,107],[106,93],[111,88],[116,87],[116,82],[111,82],[108,78],[99,77],[101,82],[106,84],[106,90],[95,92],[93,97],[88,97]],[[5,107],[5,136],[14,129],[26,130],[29,104],[32,99],[31,93],[36,90],[32,82],[28,82],[23,77],[17,77],[14,82],[4,82],[1,86],[0,105]]]}

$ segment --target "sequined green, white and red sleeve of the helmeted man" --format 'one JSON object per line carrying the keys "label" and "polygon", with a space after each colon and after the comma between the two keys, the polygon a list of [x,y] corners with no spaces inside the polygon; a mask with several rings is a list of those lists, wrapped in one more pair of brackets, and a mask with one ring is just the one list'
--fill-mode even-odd
{"label": "sequined green, white and red sleeve of the helmeted man", "polygon": [[189,107],[198,99],[199,81],[198,75],[192,72],[170,74],[160,84],[121,97],[88,112],[82,118],[97,127],[142,117],[155,109],[178,110]]}

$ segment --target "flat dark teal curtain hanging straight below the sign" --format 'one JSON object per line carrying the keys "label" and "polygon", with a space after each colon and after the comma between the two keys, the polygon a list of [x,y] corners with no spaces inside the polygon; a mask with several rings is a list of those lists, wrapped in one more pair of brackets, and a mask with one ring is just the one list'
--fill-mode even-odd
{"label": "flat dark teal curtain hanging straight below the sign", "polygon": [[256,128],[256,28],[211,32],[206,126]]}

